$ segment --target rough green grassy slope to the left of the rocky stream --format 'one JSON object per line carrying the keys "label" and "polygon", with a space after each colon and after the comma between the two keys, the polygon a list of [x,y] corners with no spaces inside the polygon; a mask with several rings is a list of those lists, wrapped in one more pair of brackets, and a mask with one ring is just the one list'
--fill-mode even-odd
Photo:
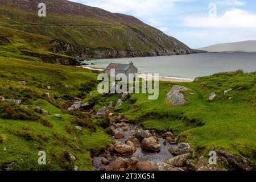
{"label": "rough green grassy slope to the left of the rocky stream", "polygon": [[[0,68],[0,95],[22,99],[23,104],[28,107],[39,106],[49,111],[49,114],[38,115],[53,125],[51,128],[38,121],[0,118],[0,166],[16,161],[19,165],[15,169],[22,170],[73,169],[75,165],[80,169],[91,170],[90,151],[104,149],[111,142],[109,135],[100,128],[97,128],[96,132],[86,128],[82,132],[77,131],[71,123],[75,116],[58,109],[56,106],[61,107],[63,101],[57,102],[56,99],[61,94],[77,96],[80,84],[94,80],[96,74],[75,67],[32,63],[5,57],[0,57]],[[23,80],[27,82],[26,86],[18,84],[18,81]],[[46,90],[47,85],[51,85],[51,90]],[[65,85],[68,85],[68,88],[65,88]],[[44,96],[46,92],[51,94],[51,99]],[[61,114],[63,118],[57,119],[55,114]],[[3,151],[3,147],[6,151]],[[47,166],[38,165],[40,150],[46,151],[49,162]],[[65,152],[76,156],[75,163],[67,163]]]}

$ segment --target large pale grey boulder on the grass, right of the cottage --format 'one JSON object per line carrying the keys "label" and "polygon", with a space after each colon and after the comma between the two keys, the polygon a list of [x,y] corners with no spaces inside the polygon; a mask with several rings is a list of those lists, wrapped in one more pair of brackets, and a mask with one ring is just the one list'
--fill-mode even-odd
{"label": "large pale grey boulder on the grass, right of the cottage", "polygon": [[184,86],[179,86],[179,85],[174,85],[170,92],[167,93],[166,97],[168,101],[171,102],[172,105],[177,106],[177,105],[184,105],[187,103],[187,101],[184,98],[183,93],[188,90],[188,88],[185,88]]}

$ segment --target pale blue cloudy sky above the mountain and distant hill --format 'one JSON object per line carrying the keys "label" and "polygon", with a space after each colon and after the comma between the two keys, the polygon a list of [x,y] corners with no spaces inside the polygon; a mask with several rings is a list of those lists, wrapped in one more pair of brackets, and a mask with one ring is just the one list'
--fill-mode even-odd
{"label": "pale blue cloudy sky above the mountain and distant hill", "polygon": [[256,40],[255,0],[71,0],[133,15],[191,48]]}

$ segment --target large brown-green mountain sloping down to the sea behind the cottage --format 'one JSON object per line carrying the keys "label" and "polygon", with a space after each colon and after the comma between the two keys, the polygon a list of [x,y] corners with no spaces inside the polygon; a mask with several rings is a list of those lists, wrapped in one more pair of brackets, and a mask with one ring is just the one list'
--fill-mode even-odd
{"label": "large brown-green mountain sloping down to the sea behind the cottage", "polygon": [[[46,17],[38,16],[39,2],[46,3]],[[103,59],[201,52],[133,16],[110,13],[97,7],[66,0],[0,0],[0,4],[0,26],[46,36],[50,41],[44,44],[44,53]],[[13,44],[16,43],[15,46],[20,44],[20,37],[17,40],[16,36],[0,31],[0,36],[6,35]],[[24,55],[35,56],[35,51],[42,52],[40,43],[33,39],[22,38],[22,43],[32,47],[26,51],[17,47]],[[42,57],[45,56],[40,59]]]}

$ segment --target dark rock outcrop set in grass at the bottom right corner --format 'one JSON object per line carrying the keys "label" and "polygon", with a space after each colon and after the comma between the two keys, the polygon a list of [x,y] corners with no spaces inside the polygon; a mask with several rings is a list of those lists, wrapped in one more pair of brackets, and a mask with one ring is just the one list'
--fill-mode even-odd
{"label": "dark rock outcrop set in grass at the bottom right corner", "polygon": [[222,163],[224,166],[245,171],[253,170],[253,163],[245,159],[243,156],[236,156],[225,151],[216,151],[216,153],[217,161]]}

